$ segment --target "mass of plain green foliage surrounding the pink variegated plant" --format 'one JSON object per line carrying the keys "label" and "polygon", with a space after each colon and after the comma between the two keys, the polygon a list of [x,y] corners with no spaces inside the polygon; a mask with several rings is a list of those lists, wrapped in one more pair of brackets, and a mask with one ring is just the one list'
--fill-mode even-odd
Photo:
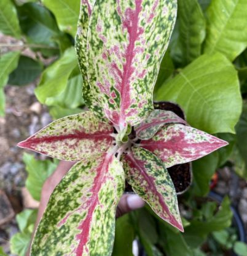
{"label": "mass of plain green foliage surrounding the pink variegated plant", "polygon": [[[78,0],[0,1],[0,31],[18,40],[0,58],[0,115],[4,115],[4,86],[23,86],[39,75],[36,97],[49,107],[54,119],[82,110],[82,78],[74,51],[79,4]],[[215,250],[211,255],[221,255],[219,248],[227,244],[238,255],[246,255],[245,244],[236,242],[229,231],[229,199],[225,197],[219,210],[213,202],[199,210],[196,200],[208,194],[211,176],[226,164],[247,179],[246,13],[246,0],[178,0],[178,19],[154,99],[178,103],[190,125],[216,134],[229,146],[193,163],[194,182],[181,199],[187,209],[184,234],[147,207],[117,220],[113,255],[132,255],[136,237],[148,256],[206,255],[200,247],[212,239],[218,247],[211,246]],[[23,56],[27,47],[35,53],[34,59]],[[26,187],[39,200],[42,184],[57,163],[38,161],[28,154],[23,161],[28,171]],[[20,233],[12,238],[12,253],[25,255],[35,215],[25,210],[17,216]],[[0,254],[4,255],[1,248]]]}

